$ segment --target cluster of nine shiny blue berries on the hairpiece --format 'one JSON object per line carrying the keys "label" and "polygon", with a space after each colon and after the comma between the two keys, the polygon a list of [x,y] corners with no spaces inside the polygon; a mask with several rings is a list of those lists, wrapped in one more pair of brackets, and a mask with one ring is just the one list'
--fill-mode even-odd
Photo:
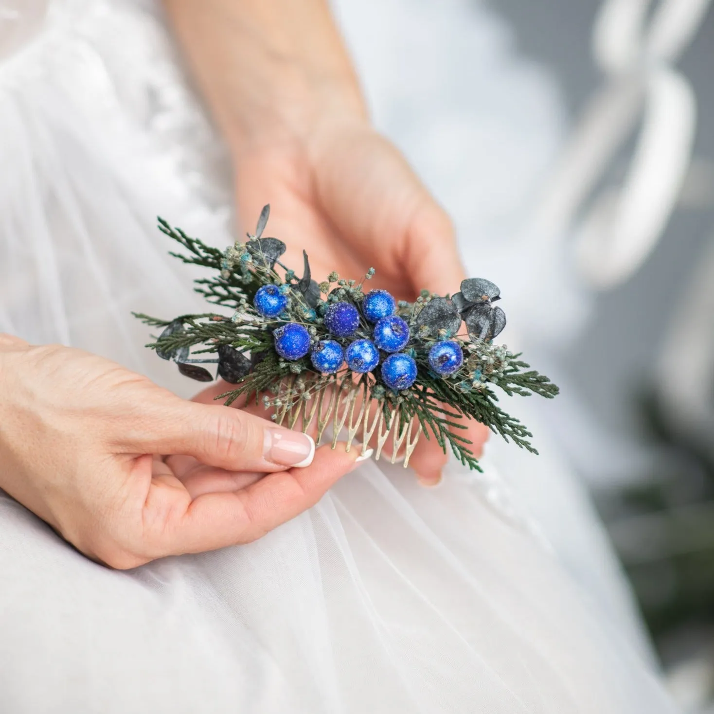
{"label": "cluster of nine shiny blue berries on the hairpiece", "polygon": [[[278,286],[261,287],[253,300],[256,311],[267,318],[286,316],[288,296]],[[395,314],[396,301],[386,290],[373,290],[361,302],[362,316],[371,323],[371,338],[353,339],[346,348],[334,338],[353,338],[360,328],[361,316],[352,303],[334,302],[323,316],[324,326],[333,338],[312,343],[308,329],[296,322],[288,322],[273,331],[277,353],[288,361],[296,361],[310,353],[316,371],[336,373],[343,363],[353,372],[373,372],[381,362],[381,378],[395,391],[410,388],[416,381],[415,351],[404,351],[411,334],[403,318]],[[381,361],[381,352],[387,353]],[[431,369],[441,376],[456,372],[463,363],[463,351],[456,340],[433,343],[428,351]]]}

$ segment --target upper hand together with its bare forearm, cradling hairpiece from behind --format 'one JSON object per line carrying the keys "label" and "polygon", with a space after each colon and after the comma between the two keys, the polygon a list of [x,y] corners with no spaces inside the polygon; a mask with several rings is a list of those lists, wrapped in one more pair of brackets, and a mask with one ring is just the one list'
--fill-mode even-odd
{"label": "upper hand together with its bare forearm, cradling hairpiece from behind", "polygon": [[[326,0],[164,0],[236,167],[243,231],[271,204],[268,234],[286,265],[310,256],[413,299],[458,291],[465,277],[451,222],[400,152],[372,129]],[[473,453],[488,429],[468,424]],[[437,483],[446,454],[421,439],[412,465]]]}

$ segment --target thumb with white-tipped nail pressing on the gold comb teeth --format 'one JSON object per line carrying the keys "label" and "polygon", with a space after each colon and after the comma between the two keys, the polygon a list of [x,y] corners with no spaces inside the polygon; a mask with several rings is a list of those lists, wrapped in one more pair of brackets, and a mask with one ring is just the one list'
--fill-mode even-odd
{"label": "thumb with white-tipped nail pressing on the gold comb teeth", "polygon": [[239,409],[177,399],[146,433],[124,446],[132,453],[182,454],[228,471],[284,471],[312,463],[315,442]]}

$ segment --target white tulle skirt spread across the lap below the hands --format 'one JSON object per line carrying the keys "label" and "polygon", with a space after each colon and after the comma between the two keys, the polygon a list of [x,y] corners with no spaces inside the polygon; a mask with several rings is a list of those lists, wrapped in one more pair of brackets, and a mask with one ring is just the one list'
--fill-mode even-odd
{"label": "white tulle skirt spread across the lap below the hands", "polygon": [[368,463],[256,543],[132,573],[0,508],[10,711],[669,711],[596,603],[468,475],[426,491]]}

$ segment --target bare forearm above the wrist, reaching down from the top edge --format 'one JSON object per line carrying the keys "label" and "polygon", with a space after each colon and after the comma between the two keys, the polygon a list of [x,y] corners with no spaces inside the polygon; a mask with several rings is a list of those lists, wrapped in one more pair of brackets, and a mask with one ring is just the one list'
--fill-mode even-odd
{"label": "bare forearm above the wrist, reaching down from the top edge", "polygon": [[236,154],[366,122],[325,0],[165,0],[178,39]]}

